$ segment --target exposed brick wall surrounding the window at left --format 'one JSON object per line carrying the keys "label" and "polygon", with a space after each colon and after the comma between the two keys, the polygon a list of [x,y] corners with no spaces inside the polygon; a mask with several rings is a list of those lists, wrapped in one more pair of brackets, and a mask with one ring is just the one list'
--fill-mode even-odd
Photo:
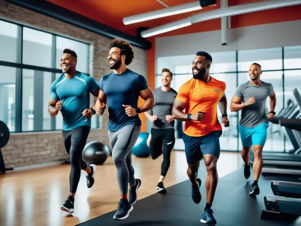
{"label": "exposed brick wall surrounding the window at left", "polygon": [[[110,73],[107,54],[111,39],[19,6],[7,4],[2,0],[0,0],[0,17],[92,43],[93,72],[91,75],[99,81],[102,76]],[[147,52],[137,47],[133,49],[135,58],[129,65],[129,69],[147,76]],[[95,103],[95,98],[91,98],[90,104],[93,103]],[[102,128],[91,129],[87,142],[98,140],[109,145],[108,118],[108,112],[105,111],[102,116]],[[11,133],[8,144],[1,151],[6,167],[28,166],[69,157],[64,147],[61,131]]]}

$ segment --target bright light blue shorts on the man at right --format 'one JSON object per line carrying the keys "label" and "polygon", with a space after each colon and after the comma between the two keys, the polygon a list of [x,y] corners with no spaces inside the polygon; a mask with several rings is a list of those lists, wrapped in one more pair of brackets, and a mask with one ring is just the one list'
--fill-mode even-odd
{"label": "bright light blue shorts on the man at right", "polygon": [[252,145],[265,145],[268,131],[268,124],[263,123],[254,128],[239,126],[240,140],[244,148]]}

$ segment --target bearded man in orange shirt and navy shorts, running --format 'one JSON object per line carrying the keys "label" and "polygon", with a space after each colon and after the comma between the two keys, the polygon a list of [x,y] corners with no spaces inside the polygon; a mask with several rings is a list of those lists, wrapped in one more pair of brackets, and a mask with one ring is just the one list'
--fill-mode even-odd
{"label": "bearded man in orange shirt and navy shorts, running", "polygon": [[207,201],[201,222],[216,224],[211,205],[218,181],[216,162],[220,155],[219,137],[222,135],[217,105],[222,113],[224,127],[229,126],[229,120],[226,84],[210,76],[211,64],[212,57],[208,53],[197,52],[192,62],[193,78],[180,87],[173,103],[172,116],[185,121],[183,141],[188,163],[187,175],[192,183],[192,199],[197,204],[201,201],[201,180],[197,178],[197,171],[200,160],[204,159],[207,169]]}

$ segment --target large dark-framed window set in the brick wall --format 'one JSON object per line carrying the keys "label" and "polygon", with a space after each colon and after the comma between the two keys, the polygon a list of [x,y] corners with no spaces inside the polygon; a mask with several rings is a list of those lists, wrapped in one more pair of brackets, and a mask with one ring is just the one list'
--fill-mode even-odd
{"label": "large dark-framed window set in the brick wall", "polygon": [[61,113],[48,113],[51,83],[62,74],[65,48],[77,53],[76,69],[89,76],[91,45],[3,20],[0,27],[0,120],[11,132],[61,130]]}

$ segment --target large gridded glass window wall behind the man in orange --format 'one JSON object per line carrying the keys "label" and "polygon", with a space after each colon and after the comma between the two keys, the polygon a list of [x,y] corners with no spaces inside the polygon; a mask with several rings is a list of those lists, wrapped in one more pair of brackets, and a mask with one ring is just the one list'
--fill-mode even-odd
{"label": "large gridded glass window wall behind the man in orange", "polygon": [[[231,112],[230,102],[235,89],[241,83],[250,80],[249,68],[253,63],[262,67],[261,80],[271,83],[276,94],[276,117],[277,114],[287,107],[287,103],[296,100],[292,93],[294,88],[301,92],[301,46],[289,46],[272,49],[242,50],[234,52],[210,53],[213,62],[210,75],[226,83],[225,94],[228,99],[228,118],[230,127],[223,127],[220,138],[222,150],[241,151],[242,145],[237,130],[241,118],[241,111]],[[157,58],[156,87],[161,86],[161,71],[167,67],[173,73],[171,86],[178,91],[179,87],[191,79],[191,63],[195,55]],[[270,100],[266,100],[266,113],[270,111]],[[221,112],[218,110],[220,120]],[[181,129],[183,129],[183,125]],[[284,127],[269,122],[267,141],[264,146],[265,152],[292,152],[296,145],[292,144],[293,138],[286,132]],[[177,139],[175,149],[184,149],[184,143]]]}

